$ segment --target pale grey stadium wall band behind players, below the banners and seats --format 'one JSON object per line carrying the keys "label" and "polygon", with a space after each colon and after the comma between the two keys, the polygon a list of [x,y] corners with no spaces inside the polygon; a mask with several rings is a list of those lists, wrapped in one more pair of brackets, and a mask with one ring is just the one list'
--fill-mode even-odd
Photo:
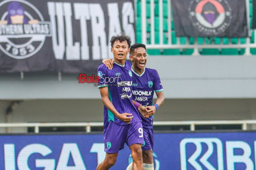
{"label": "pale grey stadium wall band behind players, below the banners and seats", "polygon": [[[166,98],[255,98],[255,56],[149,56],[158,70]],[[78,74],[0,75],[0,99],[99,99],[93,84],[79,84]]]}

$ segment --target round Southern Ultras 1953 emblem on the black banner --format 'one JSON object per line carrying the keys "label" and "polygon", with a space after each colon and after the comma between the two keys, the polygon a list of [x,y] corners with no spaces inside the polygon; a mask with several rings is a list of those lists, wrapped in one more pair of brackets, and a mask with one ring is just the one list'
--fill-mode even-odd
{"label": "round Southern Ultras 1953 emblem on the black banner", "polygon": [[31,3],[4,0],[0,3],[0,49],[16,59],[28,58],[51,36],[50,22]]}

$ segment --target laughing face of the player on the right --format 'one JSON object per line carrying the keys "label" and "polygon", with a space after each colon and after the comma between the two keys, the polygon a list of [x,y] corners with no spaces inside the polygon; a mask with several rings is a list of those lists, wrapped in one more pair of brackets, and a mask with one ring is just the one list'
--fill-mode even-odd
{"label": "laughing face of the player on the right", "polygon": [[143,47],[139,47],[134,50],[130,59],[136,69],[144,69],[147,63],[147,52]]}

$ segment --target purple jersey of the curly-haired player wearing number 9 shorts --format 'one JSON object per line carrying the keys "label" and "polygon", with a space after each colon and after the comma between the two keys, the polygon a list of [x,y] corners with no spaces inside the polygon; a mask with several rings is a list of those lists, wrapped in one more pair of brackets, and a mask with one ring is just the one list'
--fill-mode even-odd
{"label": "purple jersey of the curly-haired player wearing number 9 shorts", "polygon": [[[127,61],[124,66],[114,63],[112,70],[108,70],[108,67],[102,64],[98,67],[98,76],[100,77],[98,88],[108,86],[109,100],[118,113],[131,113],[133,118],[130,123],[141,122],[140,114],[132,104],[131,64]],[[119,125],[127,124],[117,119],[104,105],[104,127],[110,120]]]}

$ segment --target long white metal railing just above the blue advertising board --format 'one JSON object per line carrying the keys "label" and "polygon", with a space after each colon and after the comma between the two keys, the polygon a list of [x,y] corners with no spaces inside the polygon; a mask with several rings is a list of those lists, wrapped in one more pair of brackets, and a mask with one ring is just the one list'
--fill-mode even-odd
{"label": "long white metal railing just above the blue advertising board", "polygon": [[[242,130],[247,130],[248,124],[256,124],[256,120],[205,120],[205,121],[154,121],[154,125],[189,125],[195,131],[195,125],[241,125]],[[91,132],[91,127],[103,127],[103,122],[77,122],[77,123],[0,123],[0,128],[34,127],[34,132],[39,133],[39,127],[86,127],[86,132]]]}

